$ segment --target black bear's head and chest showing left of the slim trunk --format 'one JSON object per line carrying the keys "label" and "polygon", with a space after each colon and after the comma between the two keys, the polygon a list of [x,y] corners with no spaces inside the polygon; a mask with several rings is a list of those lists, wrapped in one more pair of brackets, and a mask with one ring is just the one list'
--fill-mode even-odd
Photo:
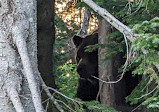
{"label": "black bear's head and chest showing left of the slim trunk", "polygon": [[98,33],[85,38],[75,35],[73,42],[76,46],[77,73],[80,76],[76,96],[83,101],[95,100],[99,82],[92,76],[98,77],[98,50],[92,52],[85,52],[85,50],[89,45],[98,43]]}

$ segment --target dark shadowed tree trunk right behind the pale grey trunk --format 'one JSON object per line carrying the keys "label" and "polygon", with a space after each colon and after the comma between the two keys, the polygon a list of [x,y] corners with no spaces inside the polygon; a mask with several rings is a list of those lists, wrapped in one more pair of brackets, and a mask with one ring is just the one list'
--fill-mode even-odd
{"label": "dark shadowed tree trunk right behind the pale grey trunk", "polygon": [[[54,28],[54,0],[37,0],[38,8],[38,69],[47,86],[55,88],[53,77],[53,44],[55,40]],[[51,91],[50,91],[51,92]],[[42,100],[48,99],[43,92]],[[47,105],[47,102],[44,106]],[[52,112],[49,104],[48,112]]]}

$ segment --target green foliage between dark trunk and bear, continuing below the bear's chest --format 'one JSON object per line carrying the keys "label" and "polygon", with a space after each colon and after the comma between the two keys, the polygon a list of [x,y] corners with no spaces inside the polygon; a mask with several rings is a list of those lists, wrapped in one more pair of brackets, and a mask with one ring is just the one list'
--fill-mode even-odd
{"label": "green foliage between dark trunk and bear, continuing below the bear's chest", "polygon": [[[60,12],[60,14],[62,14],[62,12]],[[72,24],[64,23],[58,15],[55,16],[55,26],[57,31],[56,40],[54,44],[54,74],[56,85],[62,94],[66,95],[69,98],[72,98],[73,100],[76,99],[78,101],[81,101],[80,99],[75,98],[78,84],[78,75],[75,69],[76,65],[67,63],[67,60],[70,59],[70,54],[60,53],[60,50],[62,48],[64,48],[65,50],[69,49],[68,45],[71,40],[71,37],[79,28],[78,26],[73,24],[73,22]],[[70,30],[69,27],[73,27],[74,29]],[[60,103],[62,105],[62,108],[66,112],[72,112],[73,110],[76,112],[86,112],[86,110],[83,107],[87,107],[90,110],[96,110],[98,112],[116,112],[114,109],[105,107],[104,105],[101,105],[99,102],[96,101],[81,101],[82,103],[79,104],[73,100],[69,100],[66,97],[60,96],[58,94],[54,94],[54,96],[67,105],[66,106],[63,105],[63,103]]]}

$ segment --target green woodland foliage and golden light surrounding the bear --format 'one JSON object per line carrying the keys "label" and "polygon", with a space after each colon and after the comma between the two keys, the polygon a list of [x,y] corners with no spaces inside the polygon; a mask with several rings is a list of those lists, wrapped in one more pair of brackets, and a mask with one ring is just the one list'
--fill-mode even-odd
{"label": "green woodland foliage and golden light surrounding the bear", "polygon": [[[75,95],[77,87],[75,86],[77,85],[77,74],[74,71],[76,65],[74,64],[74,57],[72,55],[73,46],[71,44],[71,37],[80,29],[84,14],[83,10],[89,8],[84,2],[77,4],[76,2],[77,1],[66,0],[56,1],[55,3],[56,39],[54,44],[54,77],[59,90],[71,98]],[[131,105],[139,105],[137,108],[146,107],[150,112],[158,110],[158,70],[154,65],[158,63],[157,48],[159,38],[157,29],[159,24],[157,16],[159,11],[157,7],[159,6],[159,1],[94,0],[94,2],[133,29],[134,33],[141,34],[135,42],[128,42],[129,52],[134,56],[130,57],[130,62],[126,69],[132,72],[134,77],[138,75],[139,77],[141,76],[142,80],[136,85],[131,94],[126,97],[126,101]],[[101,27],[102,18],[98,13],[92,9],[90,10],[92,17],[88,33],[91,34],[91,32]],[[125,53],[123,59],[118,60],[118,63],[123,63],[123,60],[126,60],[124,36],[115,28],[111,30],[113,31],[105,37],[109,42],[98,44],[94,47],[109,46],[109,49],[107,51],[105,50],[105,59],[103,59],[106,63],[108,63],[108,60],[111,59],[112,56],[119,55],[121,52]],[[145,55],[142,52],[143,50],[147,50],[148,53]],[[118,66],[120,66],[120,64]],[[118,67],[119,74],[122,73],[122,66],[123,65]],[[90,103],[93,104],[94,102]]]}

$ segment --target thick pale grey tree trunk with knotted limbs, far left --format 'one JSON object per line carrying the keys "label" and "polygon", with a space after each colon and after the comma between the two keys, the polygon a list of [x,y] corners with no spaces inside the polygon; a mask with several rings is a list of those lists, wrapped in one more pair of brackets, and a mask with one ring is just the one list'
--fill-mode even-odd
{"label": "thick pale grey tree trunk with knotted limbs, far left", "polygon": [[36,0],[0,5],[0,112],[44,112],[37,83]]}

